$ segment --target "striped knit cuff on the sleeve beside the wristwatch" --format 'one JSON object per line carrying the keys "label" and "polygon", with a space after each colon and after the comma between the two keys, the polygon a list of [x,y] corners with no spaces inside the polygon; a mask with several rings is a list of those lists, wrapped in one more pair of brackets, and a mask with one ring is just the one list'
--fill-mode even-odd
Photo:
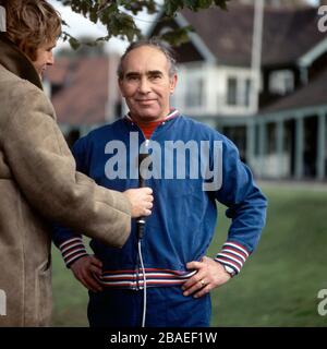
{"label": "striped knit cuff on the sleeve beside the wristwatch", "polygon": [[217,254],[215,261],[231,267],[239,274],[249,255],[250,252],[240,243],[227,241]]}

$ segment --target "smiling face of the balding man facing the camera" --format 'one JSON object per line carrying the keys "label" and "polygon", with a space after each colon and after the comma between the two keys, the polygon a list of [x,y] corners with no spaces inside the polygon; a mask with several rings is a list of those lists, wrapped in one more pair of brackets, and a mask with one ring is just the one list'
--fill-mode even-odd
{"label": "smiling face of the balding man facing the camera", "polygon": [[169,76],[167,57],[154,47],[142,46],[128,53],[122,68],[119,86],[132,117],[145,122],[164,119],[177,83],[177,75]]}

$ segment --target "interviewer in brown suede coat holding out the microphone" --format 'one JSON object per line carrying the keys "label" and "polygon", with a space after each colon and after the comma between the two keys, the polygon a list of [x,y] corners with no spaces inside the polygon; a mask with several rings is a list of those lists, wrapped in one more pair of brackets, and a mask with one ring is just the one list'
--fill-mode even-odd
{"label": "interviewer in brown suede coat holding out the microphone", "polygon": [[1,4],[7,31],[0,33],[0,289],[7,314],[0,326],[47,326],[49,222],[122,246],[131,217],[149,215],[153,197],[150,189],[119,193],[76,172],[40,82],[53,64],[60,17],[44,0]]}

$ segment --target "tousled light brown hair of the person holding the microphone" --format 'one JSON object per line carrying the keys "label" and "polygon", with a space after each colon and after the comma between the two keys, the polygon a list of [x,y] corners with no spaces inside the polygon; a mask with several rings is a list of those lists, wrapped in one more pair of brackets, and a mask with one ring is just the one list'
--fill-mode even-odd
{"label": "tousled light brown hair of the person holding the microphone", "polygon": [[32,60],[38,48],[56,41],[61,17],[45,0],[1,1],[7,11],[7,36]]}

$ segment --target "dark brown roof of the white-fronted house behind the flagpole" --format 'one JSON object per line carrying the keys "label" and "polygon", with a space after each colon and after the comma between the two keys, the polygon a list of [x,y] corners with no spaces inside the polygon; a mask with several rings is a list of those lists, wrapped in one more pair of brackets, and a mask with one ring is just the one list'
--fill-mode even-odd
{"label": "dark brown roof of the white-fronted house behind the flagpole", "polygon": [[[183,10],[182,15],[194,27],[218,62],[250,67],[254,8],[229,4],[199,13]],[[304,7],[265,8],[263,65],[288,64],[326,37],[317,28],[317,9]]]}

